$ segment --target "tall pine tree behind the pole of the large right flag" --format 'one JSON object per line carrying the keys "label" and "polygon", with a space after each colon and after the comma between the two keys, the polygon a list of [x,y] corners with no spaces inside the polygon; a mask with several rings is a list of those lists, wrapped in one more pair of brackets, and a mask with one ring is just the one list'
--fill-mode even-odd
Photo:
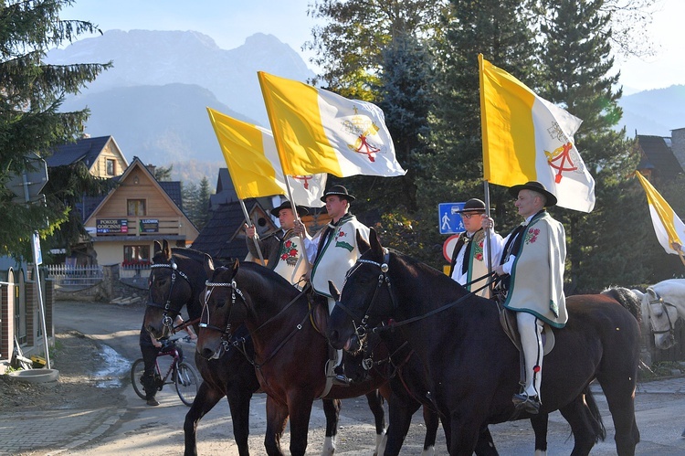
{"label": "tall pine tree behind the pole of the large right flag", "polygon": [[[529,2],[451,0],[444,35],[434,46],[436,106],[431,112],[432,153],[421,157],[419,206],[422,218],[437,220],[437,203],[482,198],[478,56],[535,86],[538,51]],[[520,220],[506,189],[490,186],[498,229],[506,233]],[[435,222],[433,222],[435,223]],[[434,242],[443,238],[433,228]],[[432,244],[433,242],[431,242]]]}

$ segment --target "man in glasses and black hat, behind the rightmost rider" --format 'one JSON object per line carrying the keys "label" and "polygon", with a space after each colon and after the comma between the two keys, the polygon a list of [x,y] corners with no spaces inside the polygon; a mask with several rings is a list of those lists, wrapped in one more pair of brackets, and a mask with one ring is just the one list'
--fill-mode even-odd
{"label": "man in glasses and black hat, behind the rightmost rider", "polygon": [[[485,231],[481,227],[485,217],[485,203],[478,198],[471,198],[464,204],[464,208],[458,211],[464,222],[466,231],[459,235],[457,244],[452,252],[452,261],[449,265],[449,277],[464,285],[469,292],[477,291],[479,296],[490,298],[490,287],[487,287],[487,278],[470,283],[488,273],[488,261],[485,252],[489,248],[485,242]],[[494,266],[501,255],[501,236],[490,233],[490,265]]]}

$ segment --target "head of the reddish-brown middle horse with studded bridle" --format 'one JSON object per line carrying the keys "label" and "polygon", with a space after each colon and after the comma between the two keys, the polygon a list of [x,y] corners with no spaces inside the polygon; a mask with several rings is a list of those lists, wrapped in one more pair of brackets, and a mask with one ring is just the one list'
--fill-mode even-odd
{"label": "head of the reddish-brown middle horse with studded bridle", "polygon": [[229,267],[220,266],[215,269],[214,261],[211,258],[205,259],[208,279],[201,298],[203,308],[196,345],[197,353],[205,359],[221,356],[227,349],[234,328],[245,321],[247,302],[235,281],[238,269],[238,260],[234,260]]}

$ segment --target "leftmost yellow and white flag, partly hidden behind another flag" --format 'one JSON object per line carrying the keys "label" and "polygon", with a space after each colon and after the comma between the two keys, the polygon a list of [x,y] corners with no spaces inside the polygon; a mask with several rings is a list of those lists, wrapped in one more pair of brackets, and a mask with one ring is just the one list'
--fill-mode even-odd
{"label": "leftmost yellow and white flag, partly hidden behind another flag", "polygon": [[[279,154],[271,133],[207,108],[237,197],[288,195]],[[296,205],[320,207],[327,175],[289,175]]]}

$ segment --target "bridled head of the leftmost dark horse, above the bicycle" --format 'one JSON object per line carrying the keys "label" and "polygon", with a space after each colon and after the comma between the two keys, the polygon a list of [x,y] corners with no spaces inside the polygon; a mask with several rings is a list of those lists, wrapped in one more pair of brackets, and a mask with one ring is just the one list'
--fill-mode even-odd
{"label": "bridled head of the leftmost dark horse, above the bicycle", "polygon": [[162,338],[174,331],[174,318],[184,305],[188,305],[188,313],[191,313],[190,307],[197,293],[194,291],[194,282],[198,281],[195,276],[202,270],[199,263],[193,264],[193,260],[184,255],[174,254],[166,240],[163,245],[155,241],[155,248],[143,324],[153,337]]}

